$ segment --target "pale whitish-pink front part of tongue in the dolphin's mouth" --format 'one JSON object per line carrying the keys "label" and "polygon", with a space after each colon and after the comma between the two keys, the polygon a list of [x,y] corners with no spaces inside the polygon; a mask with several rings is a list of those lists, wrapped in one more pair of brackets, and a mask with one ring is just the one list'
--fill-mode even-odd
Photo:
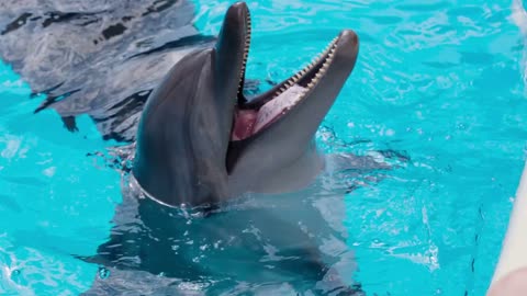
{"label": "pale whitish-pink front part of tongue in the dolphin's mouth", "polygon": [[258,133],[264,126],[270,123],[273,118],[280,115],[285,110],[291,109],[301,99],[305,88],[294,84],[283,93],[267,102],[261,106],[256,118],[255,128],[253,133]]}

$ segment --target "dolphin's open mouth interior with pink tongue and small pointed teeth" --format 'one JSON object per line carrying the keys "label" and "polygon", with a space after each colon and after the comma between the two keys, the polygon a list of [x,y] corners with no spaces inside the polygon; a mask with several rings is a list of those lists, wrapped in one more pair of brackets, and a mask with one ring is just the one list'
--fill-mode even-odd
{"label": "dolphin's open mouth interior with pink tongue and small pointed teeth", "polygon": [[[239,75],[238,98],[245,80],[245,69],[250,46],[250,15],[247,13],[247,35],[242,71]],[[247,139],[266,129],[283,117],[295,105],[310,94],[326,75],[333,62],[337,48],[338,37],[316,56],[313,61],[289,79],[282,81],[271,90],[254,98],[250,102],[238,100],[234,112],[234,124],[231,140]]]}

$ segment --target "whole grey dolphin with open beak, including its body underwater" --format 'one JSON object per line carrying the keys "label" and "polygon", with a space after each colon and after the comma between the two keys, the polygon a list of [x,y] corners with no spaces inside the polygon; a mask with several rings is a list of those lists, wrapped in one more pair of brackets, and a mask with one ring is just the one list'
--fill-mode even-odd
{"label": "whole grey dolphin with open beak, including its body underwater", "polygon": [[83,258],[114,277],[98,277],[86,295],[189,294],[182,283],[203,285],[205,295],[240,285],[264,295],[281,285],[362,295],[332,267],[349,254],[334,246],[346,235],[328,225],[313,192],[317,177],[338,166],[389,168],[368,157],[324,156],[314,140],[355,67],[358,36],[341,31],[304,69],[247,99],[250,33],[247,5],[232,4],[214,47],[182,57],[152,93],[137,128],[133,190],[123,194],[139,197],[124,198],[109,241]]}

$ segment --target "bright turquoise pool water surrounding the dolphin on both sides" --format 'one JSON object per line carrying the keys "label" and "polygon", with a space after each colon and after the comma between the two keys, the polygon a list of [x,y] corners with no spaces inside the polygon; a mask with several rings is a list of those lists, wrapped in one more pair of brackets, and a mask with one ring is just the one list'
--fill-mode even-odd
{"label": "bright turquoise pool water surrounding the dolphin on both sides", "polygon": [[[198,1],[217,33],[234,1]],[[285,3],[287,2],[287,3]],[[395,150],[403,169],[347,196],[345,221],[368,295],[484,295],[526,153],[524,39],[509,0],[251,1],[248,76],[281,80],[343,27],[356,69],[318,140],[327,150]],[[0,66],[0,294],[76,295],[97,266],[121,178],[88,117],[70,134]]]}

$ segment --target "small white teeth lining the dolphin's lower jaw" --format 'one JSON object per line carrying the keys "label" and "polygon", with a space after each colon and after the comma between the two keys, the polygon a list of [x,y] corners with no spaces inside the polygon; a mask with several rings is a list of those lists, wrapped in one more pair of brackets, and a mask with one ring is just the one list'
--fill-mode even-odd
{"label": "small white teeth lining the dolphin's lower jaw", "polygon": [[335,50],[337,49],[337,39],[338,37],[335,37],[329,45],[322,52],[319,53],[307,66],[305,66],[302,70],[296,72],[293,77],[291,77],[281,88],[280,90],[274,94],[274,96],[280,95],[284,91],[287,91],[289,88],[294,86],[299,80],[304,77],[309,71],[311,71],[318,62],[321,59],[325,58],[324,64],[322,65],[321,69],[315,73],[313,79],[307,83],[307,89],[304,91],[307,92],[310,91],[318,81],[321,78],[324,76],[324,73],[327,71],[329,68],[329,65],[333,61],[333,58],[335,56]]}

